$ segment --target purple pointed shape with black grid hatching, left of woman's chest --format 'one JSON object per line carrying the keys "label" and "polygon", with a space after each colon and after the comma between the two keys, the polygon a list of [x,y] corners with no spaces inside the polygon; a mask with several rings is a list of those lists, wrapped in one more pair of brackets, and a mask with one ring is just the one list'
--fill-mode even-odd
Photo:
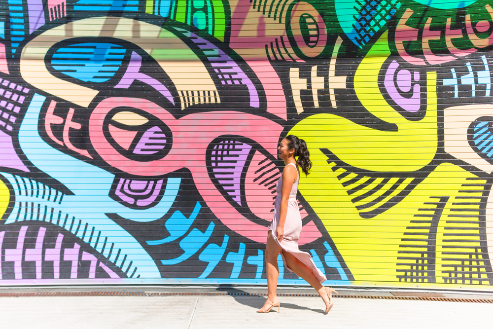
{"label": "purple pointed shape with black grid hatching, left of woman's chest", "polygon": [[212,168],[214,177],[240,206],[241,177],[250,149],[251,145],[227,141],[214,146],[215,151],[212,151],[212,155],[216,155],[217,158],[217,165]]}

